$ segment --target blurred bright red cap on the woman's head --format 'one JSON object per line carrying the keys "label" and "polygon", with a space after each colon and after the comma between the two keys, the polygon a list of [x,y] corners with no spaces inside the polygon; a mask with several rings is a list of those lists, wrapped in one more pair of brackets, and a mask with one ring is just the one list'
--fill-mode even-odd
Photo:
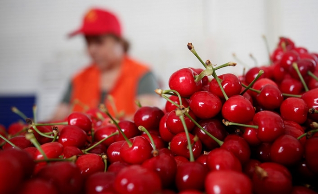
{"label": "blurred bright red cap on the woman's head", "polygon": [[121,37],[121,27],[117,17],[106,10],[91,9],[85,14],[81,27],[71,32],[69,36],[77,34],[101,35],[105,33]]}

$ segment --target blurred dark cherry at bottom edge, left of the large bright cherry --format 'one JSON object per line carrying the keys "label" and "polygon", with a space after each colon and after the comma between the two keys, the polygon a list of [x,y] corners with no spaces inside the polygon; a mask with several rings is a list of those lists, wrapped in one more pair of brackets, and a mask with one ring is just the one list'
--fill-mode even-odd
{"label": "blurred dark cherry at bottom edge, left of the large bright cherry", "polygon": [[85,192],[87,194],[115,192],[115,178],[116,174],[112,172],[96,172],[86,179]]}

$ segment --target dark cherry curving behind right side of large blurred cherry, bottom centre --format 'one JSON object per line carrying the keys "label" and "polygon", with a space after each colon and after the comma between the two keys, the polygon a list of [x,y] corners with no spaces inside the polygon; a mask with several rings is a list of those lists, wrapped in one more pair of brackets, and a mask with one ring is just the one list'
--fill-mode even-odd
{"label": "dark cherry curving behind right side of large blurred cherry, bottom centre", "polygon": [[176,162],[174,157],[168,154],[159,154],[152,157],[144,161],[142,166],[159,175],[163,188],[168,188],[175,180]]}

